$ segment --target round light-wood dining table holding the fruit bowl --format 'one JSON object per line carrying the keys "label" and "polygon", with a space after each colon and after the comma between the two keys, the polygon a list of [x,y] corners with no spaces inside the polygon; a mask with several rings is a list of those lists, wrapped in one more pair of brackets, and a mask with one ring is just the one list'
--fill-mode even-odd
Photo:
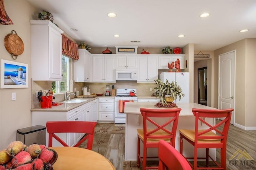
{"label": "round light-wood dining table holding the fruit bowl", "polygon": [[93,150],[78,147],[50,147],[58,154],[54,170],[115,170],[113,164]]}

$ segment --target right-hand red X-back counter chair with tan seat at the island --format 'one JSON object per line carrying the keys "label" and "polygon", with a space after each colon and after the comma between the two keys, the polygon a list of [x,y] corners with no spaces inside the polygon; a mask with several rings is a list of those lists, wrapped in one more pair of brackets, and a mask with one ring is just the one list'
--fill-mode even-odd
{"label": "right-hand red X-back counter chair with tan seat at the island", "polygon": [[[187,159],[194,159],[194,165],[190,162],[194,170],[196,169],[222,169],[226,170],[226,144],[228,137],[228,129],[231,120],[231,113],[234,109],[192,109],[195,116],[195,129],[180,129],[180,153],[183,152],[183,141],[186,139],[190,144],[194,146],[194,157],[186,157]],[[205,118],[218,118],[222,117],[221,120],[216,125],[212,126],[205,121]],[[198,125],[204,123],[208,129],[198,129]],[[224,125],[223,129],[217,129],[221,125]],[[215,132],[214,132],[215,131]],[[206,148],[206,156],[203,158],[197,157],[197,149]],[[220,148],[220,165],[209,155],[209,148]],[[209,158],[218,166],[209,166]],[[197,167],[197,160],[205,159],[206,167]]]}

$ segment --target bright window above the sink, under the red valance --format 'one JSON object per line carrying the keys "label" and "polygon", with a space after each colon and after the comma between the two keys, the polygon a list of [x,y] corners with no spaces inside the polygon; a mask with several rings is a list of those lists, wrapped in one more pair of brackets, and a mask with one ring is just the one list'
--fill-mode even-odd
{"label": "bright window above the sink, under the red valance", "polygon": [[70,91],[70,58],[62,55],[62,80],[52,82],[54,93],[65,93]]}

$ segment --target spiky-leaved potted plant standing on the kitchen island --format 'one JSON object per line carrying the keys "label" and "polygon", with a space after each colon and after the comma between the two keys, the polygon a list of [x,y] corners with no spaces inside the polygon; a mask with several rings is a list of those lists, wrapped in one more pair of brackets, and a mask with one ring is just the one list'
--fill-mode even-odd
{"label": "spiky-leaved potted plant standing on the kitchen island", "polygon": [[154,87],[156,98],[160,98],[160,102],[156,106],[162,107],[175,107],[173,101],[179,97],[179,100],[184,97],[182,89],[176,81],[171,83],[166,80],[164,83],[160,79],[155,80],[157,87]]}

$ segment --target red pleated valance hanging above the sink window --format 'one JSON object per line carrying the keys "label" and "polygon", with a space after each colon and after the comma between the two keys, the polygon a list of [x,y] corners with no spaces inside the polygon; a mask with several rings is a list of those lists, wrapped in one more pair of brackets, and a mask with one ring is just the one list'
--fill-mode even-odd
{"label": "red pleated valance hanging above the sink window", "polygon": [[69,39],[66,35],[62,34],[62,54],[78,60],[78,44]]}

